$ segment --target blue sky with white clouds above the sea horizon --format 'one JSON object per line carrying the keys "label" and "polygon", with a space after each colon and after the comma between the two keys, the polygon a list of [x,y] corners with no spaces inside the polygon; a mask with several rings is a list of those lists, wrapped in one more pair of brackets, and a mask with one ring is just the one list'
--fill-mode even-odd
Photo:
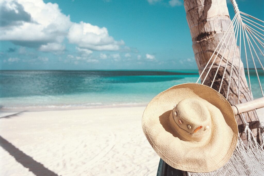
{"label": "blue sky with white clouds above the sea horizon", "polygon": [[[2,70],[197,69],[183,0],[0,3]],[[262,0],[237,3],[264,19]]]}

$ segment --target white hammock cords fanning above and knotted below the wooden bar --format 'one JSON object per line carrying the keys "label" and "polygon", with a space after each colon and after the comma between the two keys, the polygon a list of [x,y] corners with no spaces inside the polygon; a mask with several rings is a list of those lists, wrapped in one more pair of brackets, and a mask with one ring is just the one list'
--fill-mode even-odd
{"label": "white hammock cords fanning above and knotted below the wooden bar", "polygon": [[[218,45],[216,46],[216,49],[214,50],[213,54],[211,55],[210,59],[208,60],[207,64],[204,67],[204,70],[201,72],[200,77],[198,78],[197,82],[199,82],[199,80],[201,80],[202,84],[205,84],[205,81],[208,78],[209,74],[212,74],[210,71],[213,68],[213,66],[215,66],[215,61],[217,59],[220,58],[220,61],[218,63],[217,69],[214,72],[214,77],[213,80],[211,81],[211,85],[210,87],[212,88],[216,77],[219,76],[218,72],[219,72],[219,68],[223,67],[223,74],[221,77],[221,81],[220,81],[220,86],[218,88],[218,92],[220,92],[223,89],[223,81],[224,78],[228,78],[228,86],[225,87],[225,98],[228,99],[229,98],[229,92],[230,92],[230,84],[232,83],[232,74],[234,72],[234,58],[235,58],[235,54],[236,54],[236,50],[237,50],[237,44],[239,46],[239,60],[241,60],[241,52],[242,50],[244,50],[244,56],[245,56],[245,61],[246,61],[246,68],[247,68],[247,77],[248,77],[248,84],[249,84],[249,92],[250,92],[250,100],[253,100],[253,93],[252,93],[252,86],[251,86],[251,81],[250,81],[250,68],[249,68],[249,60],[252,60],[253,63],[253,67],[256,73],[256,77],[258,80],[258,84],[260,87],[260,92],[262,94],[262,97],[264,97],[264,93],[263,93],[263,88],[262,88],[262,84],[260,81],[260,77],[259,77],[259,73],[258,73],[258,69],[257,69],[257,64],[259,64],[259,66],[261,67],[261,69],[264,72],[264,67],[263,64],[261,62],[260,57],[263,58],[264,54],[263,54],[263,48],[264,48],[264,35],[262,34],[264,32],[264,26],[259,24],[258,22],[264,23],[264,21],[253,17],[251,15],[248,15],[244,12],[239,11],[237,3],[234,0],[231,0],[233,6],[234,6],[234,11],[235,11],[235,16],[233,18],[233,20],[231,21],[230,25],[228,26],[227,30],[224,32],[224,35],[222,37],[222,39],[220,40],[220,42],[218,43]],[[250,19],[249,19],[250,18]],[[256,22],[257,21],[257,22]],[[242,46],[244,45],[244,46]],[[229,48],[229,47],[234,47],[234,48]],[[255,49],[256,48],[256,49]],[[227,50],[228,49],[228,50]],[[221,55],[219,54],[221,51]],[[249,55],[249,57],[248,57]],[[261,55],[261,56],[259,56]],[[227,57],[225,57],[227,56]],[[243,59],[242,59],[243,60]],[[231,67],[231,72],[229,73],[229,75],[226,75],[227,73],[227,67],[230,66]],[[238,64],[238,90],[237,90],[237,94],[238,94],[238,104],[241,103],[240,99],[241,99],[241,69],[243,67],[243,64],[239,61]],[[207,70],[206,74],[205,74],[205,70]],[[203,78],[203,80],[202,80]],[[219,79],[219,78],[218,78]],[[257,112],[255,110],[256,116],[257,116],[257,120],[260,122]],[[245,120],[244,115],[241,115],[241,119],[243,120],[244,123],[244,128],[247,129],[245,131],[246,134],[248,135],[253,135],[252,132],[247,132],[249,130],[248,127],[248,123]],[[263,148],[264,145],[264,133],[263,133],[263,123],[260,122],[259,123],[259,127],[261,129],[261,148]],[[249,130],[250,131],[250,130]],[[247,136],[248,137],[248,136]],[[254,137],[253,137],[254,138]],[[248,138],[249,139],[249,138]]]}

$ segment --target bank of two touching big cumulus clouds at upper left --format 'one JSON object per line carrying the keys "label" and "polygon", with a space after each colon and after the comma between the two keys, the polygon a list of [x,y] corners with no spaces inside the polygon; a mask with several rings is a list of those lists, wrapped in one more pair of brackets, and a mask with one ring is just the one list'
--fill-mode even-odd
{"label": "bank of two touching big cumulus clouds at upper left", "polygon": [[[90,23],[74,23],[56,3],[43,0],[11,0],[0,2],[0,40],[16,45],[36,47],[40,51],[63,51],[65,37],[69,43],[88,50],[120,50],[123,40],[116,41],[106,27]],[[87,50],[84,50],[87,49]],[[87,54],[87,52],[86,52]]]}

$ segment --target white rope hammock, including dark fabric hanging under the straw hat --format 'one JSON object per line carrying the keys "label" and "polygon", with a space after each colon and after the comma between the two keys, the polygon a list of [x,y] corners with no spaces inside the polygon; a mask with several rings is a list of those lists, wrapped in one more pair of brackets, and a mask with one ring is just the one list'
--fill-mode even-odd
{"label": "white rope hammock, including dark fabric hanging under the straw hat", "polygon": [[[208,77],[208,74],[209,74],[210,70],[212,69],[212,67],[215,63],[215,60],[218,57],[219,52],[221,50],[224,53],[221,56],[220,63],[216,69],[216,72],[214,74],[214,78],[213,78],[213,81],[212,81],[210,87],[212,88],[212,86],[215,82],[216,75],[219,71],[220,64],[223,61],[225,54],[228,54],[227,59],[225,61],[226,64],[224,67],[223,76],[221,78],[220,87],[218,90],[220,92],[221,87],[223,85],[224,76],[227,72],[226,69],[227,69],[228,63],[229,64],[231,63],[231,73],[229,73],[230,76],[229,76],[229,82],[228,82],[228,88],[227,88],[227,94],[226,94],[226,99],[228,99],[230,84],[231,84],[231,78],[232,78],[232,72],[233,72],[233,66],[234,66],[233,61],[234,61],[236,48],[233,48],[233,49],[231,48],[231,49],[229,49],[229,53],[226,53],[228,45],[225,46],[224,43],[226,41],[228,44],[229,44],[229,42],[231,42],[231,46],[233,46],[232,44],[235,44],[234,46],[237,47],[238,38],[239,38],[239,59],[241,59],[241,50],[244,50],[246,65],[247,65],[247,76],[248,76],[248,84],[249,84],[249,91],[250,91],[251,100],[253,100],[253,94],[252,94],[250,75],[249,75],[248,53],[250,53],[249,57],[252,58],[254,69],[256,71],[256,75],[257,75],[257,79],[258,79],[258,83],[260,85],[260,91],[262,93],[262,96],[264,97],[263,89],[261,86],[261,82],[260,82],[260,78],[259,78],[259,75],[257,72],[257,66],[256,66],[256,64],[259,63],[262,70],[264,71],[264,67],[261,63],[259,56],[258,56],[258,54],[261,54],[262,56],[264,56],[263,50],[261,50],[261,48],[262,49],[264,48],[264,35],[263,35],[264,26],[259,24],[260,22],[264,23],[264,21],[262,21],[258,18],[255,18],[251,15],[248,15],[247,13],[239,11],[237,3],[235,2],[235,0],[231,0],[231,2],[232,2],[233,7],[234,7],[235,16],[234,16],[232,22],[230,23],[230,25],[228,26],[227,30],[225,31],[225,33],[224,33],[222,39],[220,40],[219,44],[216,46],[216,49],[214,50],[213,54],[211,55],[208,63],[206,64],[204,70],[201,72],[200,77],[198,78],[196,83],[199,82],[202,75],[204,76],[205,70],[209,68],[208,72],[206,73],[206,75],[202,81],[202,84],[204,84],[204,82],[205,82],[206,78]],[[241,43],[244,44],[243,49],[241,48]],[[233,56],[230,55],[232,50],[233,50],[233,53],[232,53]],[[230,60],[230,59],[232,59],[232,60]],[[257,59],[256,62],[255,62],[255,59]],[[211,65],[209,65],[210,62],[211,62]],[[240,70],[240,68],[242,66],[243,66],[243,64],[241,64],[239,62],[238,70]],[[237,91],[238,91],[238,100],[239,100],[240,94],[241,94],[240,71],[239,71],[238,78],[239,78],[239,80],[237,82],[237,84],[238,84],[238,90]],[[240,103],[240,101],[238,101],[238,103]],[[252,131],[249,129],[249,123],[247,123],[247,121],[245,120],[245,116],[242,113],[240,115],[240,118],[243,121],[244,134],[247,137],[248,143],[244,144],[241,137],[238,136],[237,148],[235,149],[232,157],[229,159],[229,161],[223,167],[221,167],[218,170],[215,170],[215,171],[209,172],[209,173],[193,173],[193,172],[185,172],[184,171],[183,175],[188,175],[188,176],[198,176],[198,175],[203,175],[203,176],[205,176],[205,175],[208,175],[208,176],[209,175],[264,175],[264,123],[260,122],[260,120],[258,118],[257,111],[256,110],[254,110],[254,111],[256,113],[257,120],[259,121],[260,136],[261,136],[260,144],[258,144],[256,139],[254,138]],[[179,173],[180,173],[179,170],[168,166],[162,159],[160,160],[157,176],[177,175]]]}

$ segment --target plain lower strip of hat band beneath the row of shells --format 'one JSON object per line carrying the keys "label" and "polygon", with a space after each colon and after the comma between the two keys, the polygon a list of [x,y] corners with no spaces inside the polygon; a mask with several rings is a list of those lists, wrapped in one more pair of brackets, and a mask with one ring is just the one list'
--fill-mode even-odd
{"label": "plain lower strip of hat band beneath the row of shells", "polygon": [[201,141],[206,139],[209,135],[208,132],[211,131],[211,128],[206,130],[202,134],[191,134],[188,131],[182,129],[174,120],[173,113],[171,112],[169,116],[170,123],[172,124],[174,130],[178,133],[179,136],[184,138],[187,141]]}

